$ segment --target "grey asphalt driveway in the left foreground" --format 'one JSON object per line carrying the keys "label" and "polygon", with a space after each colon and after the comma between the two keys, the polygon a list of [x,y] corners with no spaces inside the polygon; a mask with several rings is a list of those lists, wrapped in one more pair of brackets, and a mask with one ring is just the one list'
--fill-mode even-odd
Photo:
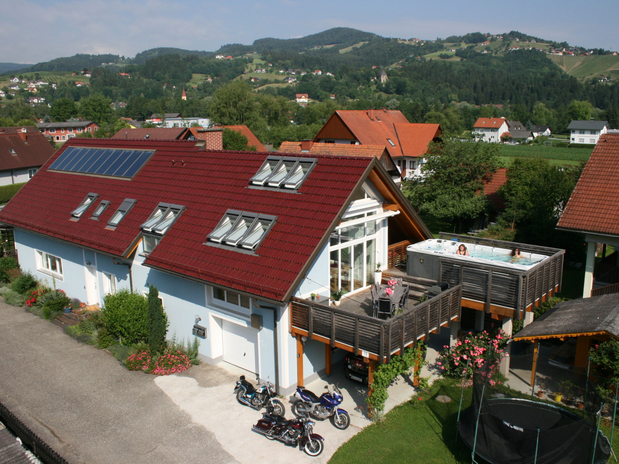
{"label": "grey asphalt driveway in the left foreground", "polygon": [[[229,384],[225,369],[205,367]],[[0,372],[0,401],[71,464],[237,463],[155,376],[1,299]]]}

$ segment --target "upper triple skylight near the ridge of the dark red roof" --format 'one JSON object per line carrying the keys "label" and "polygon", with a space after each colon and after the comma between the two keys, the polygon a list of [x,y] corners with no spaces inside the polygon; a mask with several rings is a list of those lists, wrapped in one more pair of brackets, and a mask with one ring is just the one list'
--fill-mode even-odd
{"label": "upper triple skylight near the ridge of the dark red roof", "polygon": [[298,189],[316,165],[315,158],[268,157],[249,183],[264,187]]}

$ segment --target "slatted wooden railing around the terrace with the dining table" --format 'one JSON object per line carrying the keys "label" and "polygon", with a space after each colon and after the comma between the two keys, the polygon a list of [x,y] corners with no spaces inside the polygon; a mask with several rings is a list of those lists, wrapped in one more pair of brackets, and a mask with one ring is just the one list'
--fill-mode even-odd
{"label": "slatted wooden railing around the terrace with the dining table", "polygon": [[379,362],[389,362],[396,351],[434,330],[439,332],[441,325],[460,316],[461,298],[461,286],[457,285],[387,320],[292,298],[292,330],[306,333],[308,338],[325,338],[331,346],[347,345],[353,353],[367,351]]}

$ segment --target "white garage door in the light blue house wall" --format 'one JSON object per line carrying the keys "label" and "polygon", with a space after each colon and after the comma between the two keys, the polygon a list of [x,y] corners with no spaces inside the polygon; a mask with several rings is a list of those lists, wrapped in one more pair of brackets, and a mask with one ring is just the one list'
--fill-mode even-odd
{"label": "white garage door in the light blue house wall", "polygon": [[258,372],[258,330],[222,319],[223,360]]}

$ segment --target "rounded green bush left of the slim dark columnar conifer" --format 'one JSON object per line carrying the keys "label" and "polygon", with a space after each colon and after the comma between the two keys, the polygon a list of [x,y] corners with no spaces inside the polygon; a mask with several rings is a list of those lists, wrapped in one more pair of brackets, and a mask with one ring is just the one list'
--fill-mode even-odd
{"label": "rounded green bush left of the slim dark columnar conifer", "polygon": [[[105,329],[123,345],[148,340],[147,298],[122,288],[103,297]],[[108,345],[109,346],[109,345]]]}

